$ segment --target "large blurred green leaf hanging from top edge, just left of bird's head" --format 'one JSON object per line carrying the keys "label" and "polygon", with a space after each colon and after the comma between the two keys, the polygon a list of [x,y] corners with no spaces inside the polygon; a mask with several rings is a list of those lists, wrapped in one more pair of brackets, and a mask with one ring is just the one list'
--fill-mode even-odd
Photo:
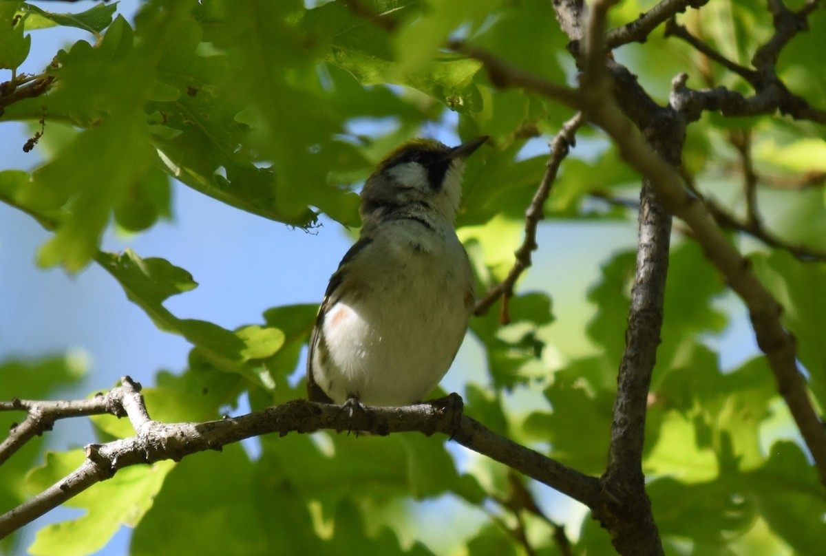
{"label": "large blurred green leaf hanging from top edge, just left of bird's head", "polygon": [[[243,2],[232,4],[232,17],[218,17],[205,26],[205,40],[234,54],[230,78],[218,91],[225,100],[249,107],[245,121],[254,131],[240,154],[258,154],[271,174],[268,198],[278,207],[279,219],[306,226],[319,207],[344,224],[358,221],[356,204],[348,190],[330,183],[341,121],[326,109],[328,94],[307,42],[291,21],[298,4]],[[266,22],[250,27],[249,21]],[[288,78],[289,77],[289,78]],[[232,145],[230,153],[235,151]],[[263,164],[268,162],[268,164]],[[226,168],[230,178],[230,168]]]}

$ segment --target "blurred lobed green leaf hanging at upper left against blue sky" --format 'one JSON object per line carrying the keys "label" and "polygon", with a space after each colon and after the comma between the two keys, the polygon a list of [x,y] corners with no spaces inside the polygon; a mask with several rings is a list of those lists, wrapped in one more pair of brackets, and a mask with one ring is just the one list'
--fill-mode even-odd
{"label": "blurred lobed green leaf hanging at upper left against blue sky", "polygon": [[[136,184],[149,172],[149,136],[140,111],[141,88],[123,79],[123,72],[140,72],[135,65],[132,31],[119,18],[98,48],[83,41],[62,53],[55,98],[61,110],[76,121],[97,126],[76,136],[45,166],[36,169],[19,201],[34,211],[64,209],[55,237],[40,251],[40,264],[62,263],[70,271],[83,268],[97,251],[112,208],[121,214]],[[90,91],[90,83],[111,87]],[[47,103],[48,107],[49,104]],[[47,108],[48,111],[48,108]],[[89,154],[94,153],[93,163]],[[128,156],[124,154],[128,153]]]}

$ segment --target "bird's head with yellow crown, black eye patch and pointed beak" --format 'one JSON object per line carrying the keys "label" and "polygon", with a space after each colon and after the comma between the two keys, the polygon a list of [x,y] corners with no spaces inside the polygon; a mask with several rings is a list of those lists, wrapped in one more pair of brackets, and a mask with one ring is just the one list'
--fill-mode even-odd
{"label": "bird's head with yellow crown, black eye patch and pointed beak", "polygon": [[419,207],[450,222],[462,199],[464,161],[487,136],[458,147],[415,139],[388,154],[362,190],[362,220],[377,221],[394,211]]}

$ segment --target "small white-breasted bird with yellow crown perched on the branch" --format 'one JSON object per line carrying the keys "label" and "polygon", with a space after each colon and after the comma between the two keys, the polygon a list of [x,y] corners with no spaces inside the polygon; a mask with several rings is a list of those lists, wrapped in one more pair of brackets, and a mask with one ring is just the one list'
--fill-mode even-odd
{"label": "small white-breasted bird with yellow crown perched on the branch", "polygon": [[312,402],[406,406],[448,372],[475,303],[454,221],[465,159],[487,139],[453,148],[410,140],[365,182],[358,240],[330,278],[311,334]]}

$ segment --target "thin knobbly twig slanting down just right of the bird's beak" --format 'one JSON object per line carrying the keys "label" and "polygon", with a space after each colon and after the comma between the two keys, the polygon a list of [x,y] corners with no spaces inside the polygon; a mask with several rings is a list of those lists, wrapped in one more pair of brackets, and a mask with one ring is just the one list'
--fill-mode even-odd
{"label": "thin knobbly twig slanting down just right of the bird's beak", "polygon": [[525,240],[522,242],[520,248],[516,249],[514,265],[510,268],[510,272],[506,278],[501,283],[490,288],[487,294],[485,294],[485,297],[482,297],[482,299],[477,302],[476,309],[473,311],[474,315],[484,315],[493,303],[496,302],[499,297],[502,297],[499,321],[501,324],[510,322],[508,302],[510,302],[510,298],[513,297],[514,285],[522,273],[533,264],[531,253],[539,247],[536,243],[536,230],[539,227],[539,221],[542,221],[545,217],[545,201],[548,200],[553,182],[557,178],[559,165],[562,164],[570,147],[574,145],[577,130],[583,123],[582,114],[577,112],[576,116],[573,116],[563,124],[562,129],[559,130],[557,135],[554,135],[553,140],[551,140],[551,154],[548,158],[548,164],[546,164],[545,167],[544,176],[539,183],[539,188],[536,190],[536,193],[534,193],[534,198],[531,200],[528,210],[525,211]]}

